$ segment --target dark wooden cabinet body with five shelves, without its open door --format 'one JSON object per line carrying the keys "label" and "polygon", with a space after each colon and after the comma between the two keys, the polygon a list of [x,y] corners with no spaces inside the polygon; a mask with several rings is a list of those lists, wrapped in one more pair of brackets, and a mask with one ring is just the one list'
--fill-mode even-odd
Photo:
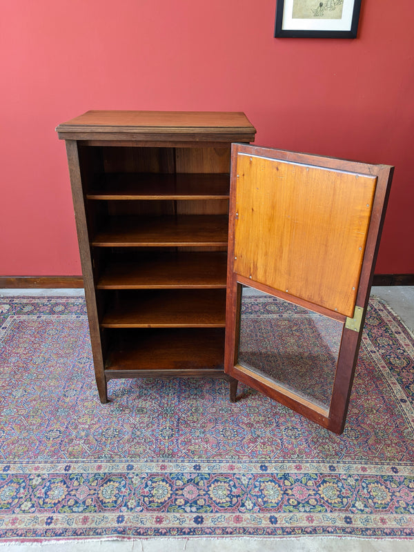
{"label": "dark wooden cabinet body with five shelves, without its open door", "polygon": [[90,111],[66,141],[95,375],[223,377],[232,142],[239,112]]}

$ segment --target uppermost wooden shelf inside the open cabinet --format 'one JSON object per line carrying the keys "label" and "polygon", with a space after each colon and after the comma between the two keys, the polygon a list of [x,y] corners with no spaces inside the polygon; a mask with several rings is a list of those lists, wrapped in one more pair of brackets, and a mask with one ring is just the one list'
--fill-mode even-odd
{"label": "uppermost wooden shelf inside the open cabinet", "polygon": [[229,176],[112,173],[101,175],[88,199],[228,199]]}

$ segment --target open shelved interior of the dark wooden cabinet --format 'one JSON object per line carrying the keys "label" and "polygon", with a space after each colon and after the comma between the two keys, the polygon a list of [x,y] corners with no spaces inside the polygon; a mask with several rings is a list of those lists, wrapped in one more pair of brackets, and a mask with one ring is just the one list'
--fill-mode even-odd
{"label": "open shelved interior of the dark wooden cabinet", "polygon": [[106,376],[222,372],[230,145],[78,152]]}

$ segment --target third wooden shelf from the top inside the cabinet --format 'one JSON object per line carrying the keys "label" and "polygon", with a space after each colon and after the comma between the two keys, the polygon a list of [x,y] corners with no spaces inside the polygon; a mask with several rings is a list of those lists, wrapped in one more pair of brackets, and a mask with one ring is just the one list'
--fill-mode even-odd
{"label": "third wooden shelf from the top inside the cabinet", "polygon": [[135,262],[115,257],[98,289],[226,288],[226,253],[149,253]]}

